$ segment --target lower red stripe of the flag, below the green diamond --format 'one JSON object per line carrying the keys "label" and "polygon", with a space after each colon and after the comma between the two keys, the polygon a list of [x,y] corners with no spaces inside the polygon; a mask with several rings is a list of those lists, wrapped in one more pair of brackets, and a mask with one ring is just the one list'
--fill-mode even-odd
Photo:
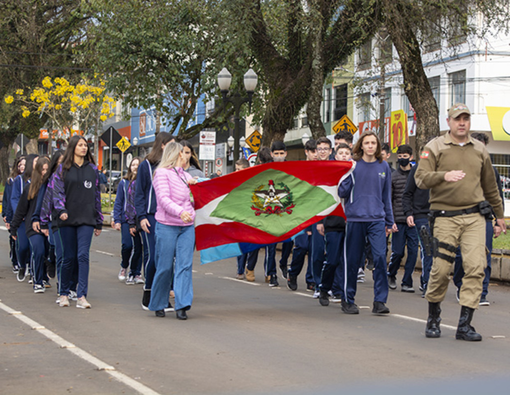
{"label": "lower red stripe of the flag, below the green diamond", "polygon": [[[328,215],[337,215],[345,218],[342,205],[338,205],[333,212]],[[270,244],[278,241],[283,241],[292,237],[299,231],[307,228],[310,225],[316,224],[324,218],[323,215],[316,215],[308,221],[300,224],[291,231],[283,234],[282,236],[274,236],[264,232],[258,228],[253,228],[239,222],[227,222],[220,225],[204,224],[195,227],[195,240],[196,249],[203,250],[218,245],[237,243],[239,242],[239,235],[242,234],[242,240],[246,243],[256,244]]]}

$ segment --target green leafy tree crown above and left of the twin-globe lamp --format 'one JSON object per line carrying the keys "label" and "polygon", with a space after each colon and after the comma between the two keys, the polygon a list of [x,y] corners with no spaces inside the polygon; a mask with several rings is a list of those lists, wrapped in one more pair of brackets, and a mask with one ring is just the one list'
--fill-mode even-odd
{"label": "green leafy tree crown above and left of the twin-globe lamp", "polygon": [[[246,60],[228,42],[221,2],[90,3],[97,22],[89,27],[89,54],[96,57],[97,70],[106,73],[109,88],[132,106],[156,106],[180,136],[187,134],[200,96],[215,95],[220,69],[228,64],[234,76],[242,76],[248,68],[237,72]],[[234,80],[233,88],[237,84]],[[213,120],[223,122],[222,114],[216,111]]]}

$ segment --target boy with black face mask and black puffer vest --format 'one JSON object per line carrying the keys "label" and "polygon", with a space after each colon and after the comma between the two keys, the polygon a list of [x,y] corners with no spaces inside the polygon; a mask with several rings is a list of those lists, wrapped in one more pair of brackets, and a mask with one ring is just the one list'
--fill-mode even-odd
{"label": "boy with black face mask and black puffer vest", "polygon": [[398,232],[391,236],[391,258],[388,267],[388,284],[390,289],[396,289],[396,275],[400,262],[404,257],[404,248],[407,244],[407,260],[404,266],[404,277],[402,278],[402,292],[414,292],[413,271],[418,256],[418,234],[416,229],[407,225],[407,217],[402,207],[402,193],[409,172],[411,171],[410,161],[413,159],[413,149],[406,144],[400,145],[397,149],[398,167],[391,176],[393,217],[398,227]]}

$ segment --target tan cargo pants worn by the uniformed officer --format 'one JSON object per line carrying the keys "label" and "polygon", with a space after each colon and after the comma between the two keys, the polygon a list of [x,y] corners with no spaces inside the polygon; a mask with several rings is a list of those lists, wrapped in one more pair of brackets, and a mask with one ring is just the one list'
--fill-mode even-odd
{"label": "tan cargo pants worn by the uniformed officer", "polygon": [[[464,278],[460,292],[459,304],[473,309],[478,308],[482,291],[482,282],[487,266],[485,246],[485,218],[479,213],[456,215],[454,217],[437,217],[433,235],[439,241],[453,246],[460,245]],[[439,252],[455,256],[455,253],[439,248]],[[434,258],[425,298],[436,303],[445,299],[450,281],[452,263]]]}

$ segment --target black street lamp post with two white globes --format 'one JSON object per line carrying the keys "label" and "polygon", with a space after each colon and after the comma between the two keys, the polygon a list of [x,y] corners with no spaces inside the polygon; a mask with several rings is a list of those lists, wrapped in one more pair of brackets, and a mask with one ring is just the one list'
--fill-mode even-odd
{"label": "black street lamp post with two white globes", "polygon": [[244,103],[249,103],[249,109],[251,111],[251,99],[253,97],[253,91],[257,87],[258,77],[257,74],[250,68],[244,75],[244,88],[248,96],[242,96],[241,93],[235,92],[234,94],[227,96],[228,89],[232,82],[232,75],[226,67],[223,67],[218,74],[218,86],[221,90],[221,96],[223,98],[223,105],[226,107],[228,103],[232,103],[234,106],[234,163],[239,159],[239,129],[240,129],[240,117],[241,106]]}

